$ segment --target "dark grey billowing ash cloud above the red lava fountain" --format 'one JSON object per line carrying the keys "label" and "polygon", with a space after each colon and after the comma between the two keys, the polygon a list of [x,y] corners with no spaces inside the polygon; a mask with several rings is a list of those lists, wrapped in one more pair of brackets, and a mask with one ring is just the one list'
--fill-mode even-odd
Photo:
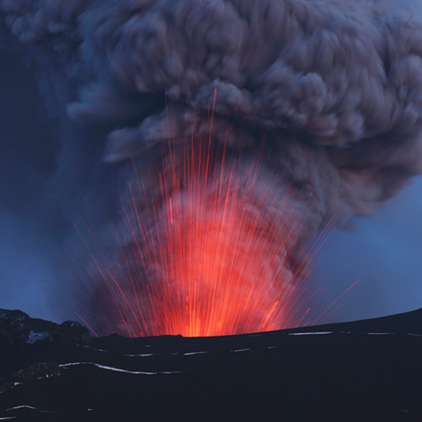
{"label": "dark grey billowing ash cloud above the red lava fountain", "polygon": [[[295,246],[422,172],[422,24],[407,14],[335,0],[1,0],[0,11],[40,74],[65,70],[70,119],[108,132],[104,162],[130,181],[135,158],[145,198],[145,160],[163,139],[183,148],[207,134],[210,109],[213,142],[233,157],[268,130],[261,177],[295,185]],[[284,208],[255,205],[283,224]]]}

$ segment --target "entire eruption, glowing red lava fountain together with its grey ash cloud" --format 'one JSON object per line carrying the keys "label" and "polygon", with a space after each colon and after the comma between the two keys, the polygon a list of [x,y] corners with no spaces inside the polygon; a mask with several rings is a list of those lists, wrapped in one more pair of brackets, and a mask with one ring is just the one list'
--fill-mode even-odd
{"label": "entire eruption, glowing red lava fountain together with its grey ash cloud", "polygon": [[422,25],[386,3],[0,0],[60,127],[68,311],[128,336],[315,322],[324,233],[422,173]]}

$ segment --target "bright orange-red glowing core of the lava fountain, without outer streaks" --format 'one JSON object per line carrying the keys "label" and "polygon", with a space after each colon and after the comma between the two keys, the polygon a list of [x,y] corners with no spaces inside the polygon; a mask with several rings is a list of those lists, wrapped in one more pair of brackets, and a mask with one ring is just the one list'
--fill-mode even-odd
{"label": "bright orange-red glowing core of the lava fountain, without outer streaks", "polygon": [[[286,325],[293,316],[293,275],[285,268],[291,240],[288,225],[273,222],[265,211],[275,198],[254,189],[260,185],[253,167],[240,178],[224,168],[223,156],[222,167],[207,179],[192,171],[201,157],[192,158],[193,166],[185,167],[187,185],[173,185],[155,219],[157,237],[148,241],[144,233],[144,265],[155,270],[144,319],[153,325],[145,330],[141,319],[140,330],[210,336]],[[259,207],[262,201],[265,207]],[[145,314],[145,308],[141,311]]]}

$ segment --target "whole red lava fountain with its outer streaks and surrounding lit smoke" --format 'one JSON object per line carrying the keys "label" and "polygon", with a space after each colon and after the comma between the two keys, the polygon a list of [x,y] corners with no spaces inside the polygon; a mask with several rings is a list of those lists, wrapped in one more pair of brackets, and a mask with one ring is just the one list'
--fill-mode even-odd
{"label": "whole red lava fountain with its outer streaks and surrounding lit smoke", "polygon": [[131,199],[113,229],[118,262],[103,265],[82,238],[93,259],[85,270],[97,284],[91,287],[91,325],[128,336],[228,335],[300,325],[309,311],[301,283],[311,257],[289,260],[300,225],[292,189],[262,176],[260,157],[233,158],[211,135],[192,134],[178,148],[166,143],[162,153],[161,171],[151,175],[152,194],[133,162]]}

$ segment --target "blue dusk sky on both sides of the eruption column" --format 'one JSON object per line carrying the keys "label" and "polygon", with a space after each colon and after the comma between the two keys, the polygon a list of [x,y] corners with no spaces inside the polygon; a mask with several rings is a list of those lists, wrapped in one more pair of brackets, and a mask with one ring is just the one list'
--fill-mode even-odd
{"label": "blue dusk sky on both sides of the eruption column", "polygon": [[[76,77],[68,78],[56,62],[52,65],[52,62],[46,61],[46,68],[41,66],[41,70],[39,64],[34,66],[32,56],[40,60],[37,57],[39,51],[34,49],[34,53],[21,48],[13,40],[2,23],[0,48],[5,48],[0,50],[0,308],[19,308],[32,317],[61,322],[75,319],[75,303],[79,300],[69,269],[60,257],[60,251],[63,252],[61,248],[75,244],[77,235],[72,221],[80,222],[87,216],[100,215],[100,211],[109,207],[111,202],[106,193],[109,188],[105,186],[110,181],[115,182],[115,170],[102,161],[105,139],[109,136],[107,139],[115,142],[111,142],[113,148],[121,135],[123,141],[119,142],[126,148],[132,142],[134,133],[141,136],[149,130],[151,134],[157,127],[153,123],[152,129],[142,125],[132,128],[133,122],[138,124],[139,116],[145,117],[149,113],[149,110],[144,110],[142,103],[139,113],[121,117],[125,107],[129,109],[132,103],[138,99],[141,101],[138,92],[122,99],[123,94],[116,94],[114,88],[110,92],[101,91],[101,83],[104,80],[107,81],[105,84],[109,83],[108,76],[98,76],[97,79],[97,76],[89,76],[94,81],[90,82],[89,89],[93,86],[97,89],[95,97],[92,92],[87,93],[85,80],[80,82]],[[89,57],[92,55],[95,68],[100,53],[95,50],[93,42],[88,42],[84,48],[82,53]],[[68,50],[64,48],[63,51]],[[65,60],[70,61],[67,56]],[[89,61],[86,57],[84,60]],[[81,63],[78,62],[78,66],[84,68],[86,63]],[[81,71],[81,80],[88,78],[90,71],[92,69],[86,73]],[[146,80],[148,77],[145,76]],[[148,80],[151,80],[151,84],[158,84],[152,78]],[[220,79],[218,81],[220,84]],[[317,84],[315,81],[312,83]],[[116,86],[120,87],[117,82]],[[225,92],[226,88],[219,87],[220,92]],[[198,89],[198,104],[205,101],[200,95],[208,98],[208,94],[204,94],[208,88],[201,89]],[[115,101],[113,95],[116,95]],[[160,108],[163,95],[155,96],[149,92],[145,95],[149,97],[146,100],[142,97],[142,101]],[[81,98],[80,103],[74,108],[66,108],[76,98]],[[104,98],[103,108],[99,106],[101,98]],[[231,97],[227,95],[227,98]],[[228,103],[230,101],[227,100]],[[115,104],[118,104],[116,109],[120,107],[119,111],[114,110]],[[244,109],[249,113],[248,107]],[[229,106],[226,108],[228,110]],[[220,107],[222,116],[226,108],[225,105]],[[243,108],[240,109],[243,113]],[[98,113],[95,118],[98,121],[103,119],[103,125],[83,128],[71,121],[67,111],[76,120],[89,119]],[[422,114],[422,111],[419,113]],[[159,121],[159,112],[150,116],[153,122],[154,119]],[[264,116],[262,121],[257,120],[257,124],[271,119],[272,115]],[[124,129],[121,130],[122,127]],[[380,129],[380,133],[383,130]],[[153,141],[156,139],[153,138]],[[322,142],[322,145],[326,143]],[[118,146],[122,148],[118,153],[126,153],[120,144]],[[292,156],[294,154],[295,151]],[[355,159],[355,156],[351,158]],[[409,167],[413,165],[409,164]],[[125,171],[119,173],[121,179]],[[403,173],[410,174],[411,171]],[[321,176],[319,181],[322,184],[324,177]],[[119,184],[116,186],[119,187]],[[337,200],[335,197],[331,202]],[[352,203],[352,214],[357,207],[353,208],[355,200],[357,203],[360,198],[346,198],[348,206]],[[374,208],[378,208],[378,204]],[[319,291],[311,306],[326,308],[360,279],[338,300],[335,308],[341,307],[330,316],[329,322],[376,317],[421,307],[421,213],[422,179],[421,176],[414,176],[407,187],[374,210],[372,215],[353,216],[351,222],[354,228],[336,232],[317,256],[318,265],[311,274],[310,286]],[[359,214],[359,210],[356,214]],[[99,220],[98,224],[100,227],[103,221]],[[306,236],[303,238],[308,239],[310,235]],[[312,240],[309,243],[312,244]]]}

